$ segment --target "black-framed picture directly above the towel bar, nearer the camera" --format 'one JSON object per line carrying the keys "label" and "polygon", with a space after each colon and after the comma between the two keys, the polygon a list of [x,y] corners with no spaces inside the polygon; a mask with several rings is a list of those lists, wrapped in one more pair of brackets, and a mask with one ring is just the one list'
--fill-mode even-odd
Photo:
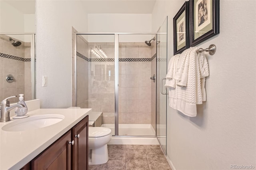
{"label": "black-framed picture directly above the towel bar, nearer the camera", "polygon": [[197,45],[220,33],[220,1],[189,0],[189,46]]}

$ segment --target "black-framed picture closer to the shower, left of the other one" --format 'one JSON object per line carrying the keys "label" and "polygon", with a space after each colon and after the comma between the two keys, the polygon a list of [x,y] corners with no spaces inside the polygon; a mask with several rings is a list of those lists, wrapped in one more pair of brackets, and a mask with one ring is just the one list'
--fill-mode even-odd
{"label": "black-framed picture closer to the shower, left of the other one", "polygon": [[185,2],[173,18],[174,55],[188,48],[188,2]]}

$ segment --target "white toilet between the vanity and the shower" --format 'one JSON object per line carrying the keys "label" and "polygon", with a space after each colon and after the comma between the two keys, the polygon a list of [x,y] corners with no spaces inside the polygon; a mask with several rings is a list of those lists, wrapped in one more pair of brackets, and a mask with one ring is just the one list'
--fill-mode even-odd
{"label": "white toilet between the vanity and the shower", "polygon": [[105,127],[89,127],[89,165],[108,162],[107,143],[112,138],[111,129]]}

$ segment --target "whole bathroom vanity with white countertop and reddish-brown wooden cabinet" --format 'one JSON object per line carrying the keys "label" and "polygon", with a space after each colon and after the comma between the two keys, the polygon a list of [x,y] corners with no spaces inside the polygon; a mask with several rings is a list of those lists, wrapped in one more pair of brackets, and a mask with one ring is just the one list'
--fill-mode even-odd
{"label": "whole bathroom vanity with white countertop and reddish-brown wooden cabinet", "polygon": [[[0,169],[36,170],[42,169],[42,166],[47,169],[88,169],[90,112],[91,109],[29,111],[28,118],[32,120],[39,116],[62,116],[58,123],[42,128],[35,128],[37,125],[34,125],[31,128],[24,126],[25,129],[19,130],[15,126],[10,126],[15,125],[14,121],[17,120],[0,123]],[[28,118],[24,118],[24,121]]]}

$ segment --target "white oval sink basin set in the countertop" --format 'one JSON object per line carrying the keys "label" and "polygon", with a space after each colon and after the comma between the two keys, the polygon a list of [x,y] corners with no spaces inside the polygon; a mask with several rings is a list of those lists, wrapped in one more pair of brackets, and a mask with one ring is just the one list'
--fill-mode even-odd
{"label": "white oval sink basin set in the countertop", "polygon": [[15,120],[2,127],[5,131],[25,131],[48,127],[62,121],[65,117],[58,114],[37,115]]}

